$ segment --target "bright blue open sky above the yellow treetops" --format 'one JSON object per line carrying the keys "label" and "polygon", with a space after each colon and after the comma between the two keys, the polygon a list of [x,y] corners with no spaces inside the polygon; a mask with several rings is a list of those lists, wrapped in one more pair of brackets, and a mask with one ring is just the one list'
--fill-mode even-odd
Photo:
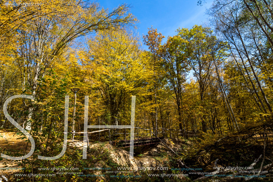
{"label": "bright blue open sky above the yellow treetops", "polygon": [[[118,5],[126,3],[132,6],[131,13],[140,21],[138,26],[139,36],[146,35],[148,28],[157,28],[166,38],[175,35],[175,30],[180,28],[191,28],[195,24],[206,22],[206,8],[209,8],[212,0],[206,0],[203,6],[197,5],[198,0],[104,0],[98,1],[104,8],[112,10]],[[166,38],[163,40],[166,41]],[[142,40],[142,39],[141,39]],[[147,49],[146,46],[143,46]]]}

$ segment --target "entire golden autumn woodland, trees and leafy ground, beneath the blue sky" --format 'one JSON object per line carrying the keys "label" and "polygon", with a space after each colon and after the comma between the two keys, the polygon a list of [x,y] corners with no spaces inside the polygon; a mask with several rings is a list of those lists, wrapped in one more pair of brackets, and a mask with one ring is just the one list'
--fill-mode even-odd
{"label": "entire golden autumn woodland, trees and leafy ground, beneath the blue sky", "polygon": [[[0,1],[0,152],[22,156],[31,147],[4,115],[4,103],[14,95],[33,98],[11,100],[7,112],[34,138],[35,151],[23,160],[0,158],[1,167],[22,167],[1,170],[10,181],[272,179],[272,1],[214,0],[207,10],[208,23],[177,27],[174,36],[163,35],[153,26],[139,35],[139,21],[128,4],[109,10],[99,1],[22,3]],[[202,6],[204,1],[197,3]],[[79,88],[75,105],[71,88]],[[69,96],[68,132],[74,121],[78,133],[73,140],[68,133],[69,147],[61,158],[40,160],[37,155],[50,157],[62,151],[65,96]],[[126,144],[130,129],[88,129],[94,133],[88,136],[87,159],[82,159],[85,96],[89,96],[88,125],[130,125],[135,96],[135,140],[154,138],[160,143],[135,147],[134,158],[141,166],[154,162],[169,169],[135,171],[142,177],[120,178],[107,170],[83,168],[130,167],[115,161],[129,155],[118,141]],[[9,141],[12,137],[14,142]],[[151,154],[155,149],[160,152]],[[135,161],[134,165],[139,166]],[[55,174],[40,167],[69,166],[83,175],[72,171],[54,177],[15,176]],[[254,167],[256,172],[219,168],[227,166]],[[184,175],[150,176],[163,173]]]}

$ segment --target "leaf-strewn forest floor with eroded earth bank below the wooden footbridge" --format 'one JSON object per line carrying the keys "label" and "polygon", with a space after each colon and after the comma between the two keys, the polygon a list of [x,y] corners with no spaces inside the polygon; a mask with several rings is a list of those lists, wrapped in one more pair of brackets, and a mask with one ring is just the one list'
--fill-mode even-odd
{"label": "leaf-strewn forest floor with eroded earth bank below the wooden footbridge", "polygon": [[[5,153],[10,156],[20,156],[26,154],[30,150],[30,143],[27,144],[26,141],[22,141],[16,135],[17,132],[14,130],[1,129],[0,130],[0,152]],[[113,146],[109,142],[90,142],[89,149],[87,152],[87,159],[82,159],[82,146],[83,142],[81,140],[68,140],[68,147],[63,158],[53,160],[51,162],[38,160],[37,155],[32,155],[27,162],[32,161],[32,166],[23,164],[20,161],[12,161],[3,159],[0,161],[0,172],[1,175],[6,176],[8,179],[13,181],[20,181],[20,178],[15,177],[15,174],[28,172],[46,172],[39,171],[38,167],[55,167],[55,166],[74,166],[79,168],[79,172],[83,174],[93,174],[96,177],[82,178],[79,176],[73,176],[70,181],[113,181],[111,175],[135,175],[142,176],[141,179],[131,179],[132,181],[193,181],[201,177],[197,174],[191,174],[190,170],[179,170],[179,168],[184,168],[177,162],[181,159],[184,161],[186,166],[191,168],[198,168],[197,172],[213,172],[214,163],[216,159],[219,159],[218,167],[247,167],[253,163],[255,159],[258,158],[260,154],[263,153],[262,137],[254,137],[255,140],[247,142],[245,144],[238,143],[227,143],[224,144],[225,148],[222,146],[214,146],[213,149],[208,151],[198,149],[200,145],[198,140],[193,139],[164,139],[164,143],[155,145],[145,145],[140,147],[134,147],[134,159],[129,157],[129,148],[124,149],[120,147]],[[38,143],[38,142],[36,142]],[[60,143],[62,140],[60,139]],[[166,147],[170,147],[174,152],[179,153],[180,156],[175,156],[174,153]],[[270,146],[270,145],[269,145]],[[38,147],[38,144],[37,146]],[[198,152],[199,151],[199,152]],[[269,165],[272,163],[272,150],[267,149],[266,158],[264,165]],[[70,161],[71,160],[71,161]],[[261,160],[256,165],[254,169],[260,167]],[[263,165],[263,166],[264,166]],[[27,169],[21,170],[21,166],[28,166]],[[82,167],[82,168],[81,168]],[[127,167],[126,169],[121,169],[121,167]],[[156,169],[157,167],[167,167],[168,169]],[[5,169],[4,169],[5,168]],[[103,170],[96,170],[96,169]],[[144,170],[145,169],[145,170]],[[147,170],[152,169],[152,170]],[[178,169],[178,170],[177,170]],[[56,173],[56,171],[50,171]],[[181,175],[176,177],[150,177],[149,175]],[[188,174],[188,176],[182,176]],[[230,175],[229,173],[219,173]],[[63,175],[57,179],[63,179]],[[152,180],[149,180],[152,179]],[[255,178],[249,181],[269,181],[272,179],[271,175],[267,175],[266,178]],[[25,178],[23,179],[23,181]],[[242,178],[232,179],[230,176],[224,177],[209,177],[205,179],[200,179],[197,181],[240,181]],[[35,181],[33,178],[31,181]],[[36,181],[39,181],[36,180]],[[52,181],[52,179],[51,179]],[[114,181],[128,181],[127,178],[115,178]]]}

